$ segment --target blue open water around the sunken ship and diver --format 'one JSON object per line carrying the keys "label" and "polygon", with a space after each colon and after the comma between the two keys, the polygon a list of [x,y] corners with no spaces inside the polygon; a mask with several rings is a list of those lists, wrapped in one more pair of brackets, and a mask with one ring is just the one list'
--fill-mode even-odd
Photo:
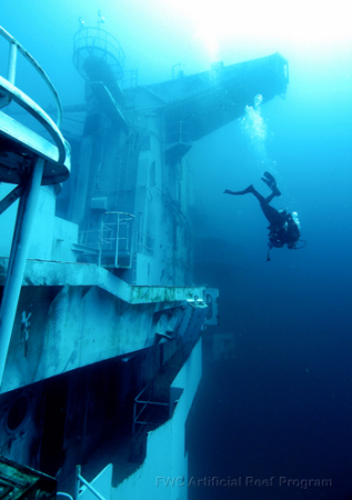
{"label": "blue open water around the sunken ship and diver", "polygon": [[[100,8],[127,64],[139,68],[141,84],[170,79],[180,60],[188,64],[185,74],[211,62],[190,42],[190,26],[178,24],[182,16],[153,13],[155,0],[148,2],[148,14],[140,1],[53,1],[50,9],[44,1],[30,3],[7,2],[1,24],[38,58],[63,104],[83,100],[83,82],[71,63],[77,19],[95,22]],[[288,26],[286,17],[278,24]],[[326,26],[326,37],[330,31]],[[296,33],[283,42],[233,36],[220,47],[217,60],[225,64],[280,51],[290,62],[288,94],[262,106],[262,128],[243,131],[237,121],[190,153],[203,221],[195,236],[209,242],[198,254],[198,281],[219,288],[215,331],[235,339],[235,358],[221,362],[204,342],[188,438],[189,477],[208,482],[193,482],[190,500],[352,498],[352,42],[349,37],[302,46],[299,27]],[[274,207],[299,212],[308,241],[300,251],[274,249],[268,263],[266,221],[257,200],[222,193],[250,183],[268,193],[260,181],[264,170],[275,174],[282,191]],[[209,486],[217,477],[241,478],[241,486]],[[272,486],[245,486],[245,478],[263,484],[272,477]],[[280,477],[299,486],[279,486]],[[332,486],[304,489],[304,479]]]}

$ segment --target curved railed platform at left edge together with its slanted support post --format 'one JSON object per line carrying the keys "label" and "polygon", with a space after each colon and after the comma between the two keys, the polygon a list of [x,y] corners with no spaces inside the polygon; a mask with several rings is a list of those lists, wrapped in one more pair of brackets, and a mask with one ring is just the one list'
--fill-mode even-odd
{"label": "curved railed platform at left edge together with its slanted support post", "polygon": [[[58,92],[49,80],[47,73],[29,54],[29,52],[1,27],[0,36],[10,43],[7,73],[8,79],[0,77],[0,106],[3,108],[13,100],[44,127],[56,144],[56,148],[53,148],[52,144],[43,138],[40,140],[40,136],[34,133],[32,130],[27,129],[21,123],[12,120],[7,113],[3,113],[2,111],[0,112],[0,139],[2,140],[2,138],[6,138],[11,141],[11,143],[20,144],[24,147],[24,149],[28,148],[29,151],[34,153],[33,158],[30,159],[31,168],[29,169],[26,178],[21,172],[23,167],[23,157],[21,153],[17,158],[16,168],[8,168],[7,166],[1,164],[1,180],[9,183],[20,184],[19,189],[14,188],[11,196],[6,197],[0,203],[1,210],[3,211],[3,209],[9,207],[16,198],[20,198],[0,309],[1,386],[20,290],[24,276],[26,261],[30,244],[30,231],[32,220],[36,216],[39,189],[43,180],[46,180],[47,183],[57,183],[62,180],[63,176],[69,173],[70,148],[58,128],[62,118],[61,104]],[[34,67],[53,93],[58,107],[58,127],[32,99],[14,87],[18,51],[20,51],[20,53],[31,63],[31,66]],[[48,169],[46,169],[47,159],[54,162],[52,166],[49,161]],[[46,178],[47,174],[48,178]]]}

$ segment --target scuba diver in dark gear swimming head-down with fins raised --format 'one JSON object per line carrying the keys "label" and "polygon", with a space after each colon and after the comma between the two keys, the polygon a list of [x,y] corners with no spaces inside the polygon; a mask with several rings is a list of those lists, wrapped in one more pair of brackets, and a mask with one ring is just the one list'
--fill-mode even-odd
{"label": "scuba diver in dark gear swimming head-down with fins raised", "polygon": [[[260,194],[253,188],[252,184],[249,186],[243,191],[230,191],[229,189],[227,189],[224,191],[224,193],[241,196],[241,194],[247,194],[247,193],[251,192],[252,194],[254,194],[254,197],[260,202],[261,209],[270,222],[270,224],[268,226],[268,229],[270,230],[269,243],[268,243],[269,250],[268,250],[268,257],[266,257],[266,262],[268,262],[268,261],[270,261],[270,250],[273,247],[281,248],[284,244],[286,244],[289,250],[293,250],[293,249],[298,250],[296,243],[300,239],[301,233],[300,233],[300,228],[299,228],[300,222],[299,222],[296,212],[292,212],[292,214],[291,214],[291,213],[288,213],[285,210],[276,210],[269,204],[274,197],[281,196],[281,192],[278,189],[274,177],[269,172],[264,172],[262,181],[265,182],[265,184],[269,186],[269,188],[272,191],[272,193],[268,198],[264,198],[262,194]],[[305,241],[304,241],[304,243],[306,244]],[[304,244],[304,247],[305,247],[305,244]],[[299,248],[303,248],[303,247],[299,247]]]}

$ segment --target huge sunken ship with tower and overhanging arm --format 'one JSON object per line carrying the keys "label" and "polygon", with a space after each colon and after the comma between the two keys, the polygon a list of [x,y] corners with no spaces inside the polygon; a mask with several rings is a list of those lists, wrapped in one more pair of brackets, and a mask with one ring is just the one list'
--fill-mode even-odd
{"label": "huge sunken ship with tower and overhanging arm", "polygon": [[[42,498],[86,500],[91,488],[104,499],[187,498],[201,331],[218,322],[218,291],[193,282],[187,153],[258,93],[283,94],[288,63],[274,54],[140,87],[118,40],[81,28],[73,64],[86,103],[67,113],[82,127],[63,139],[14,87],[13,53],[32,58],[0,34],[10,44],[0,80],[0,467],[56,478],[53,489],[36,476]],[[12,100],[50,140],[10,118]]]}

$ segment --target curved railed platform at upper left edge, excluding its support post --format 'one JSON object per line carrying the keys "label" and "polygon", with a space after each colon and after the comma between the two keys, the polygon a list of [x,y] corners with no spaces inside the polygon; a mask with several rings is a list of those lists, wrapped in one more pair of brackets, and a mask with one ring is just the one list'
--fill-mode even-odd
{"label": "curved railed platform at upper left edge, excluding its support post", "polygon": [[[3,28],[0,36],[9,42],[9,61],[7,78],[0,77],[0,108],[6,109],[16,102],[31,114],[49,133],[51,141],[0,111],[0,182],[20,184],[28,177],[37,158],[44,160],[41,184],[57,184],[70,174],[70,146],[62,137],[62,110],[58,93],[46,72],[30,53]],[[20,52],[44,80],[58,107],[57,123],[24,92],[14,86],[17,54]]]}

